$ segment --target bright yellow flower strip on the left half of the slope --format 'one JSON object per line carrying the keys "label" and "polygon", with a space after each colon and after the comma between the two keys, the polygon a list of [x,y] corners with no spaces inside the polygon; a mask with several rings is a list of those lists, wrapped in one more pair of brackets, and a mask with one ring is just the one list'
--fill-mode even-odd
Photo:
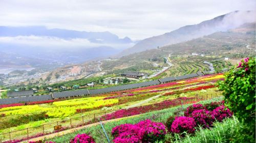
{"label": "bright yellow flower strip on the left half of the slope", "polygon": [[0,114],[22,115],[35,112],[46,112],[49,117],[67,117],[74,115],[76,109],[93,109],[118,103],[117,99],[103,100],[103,98],[104,97],[82,98],[58,101],[50,104],[7,107],[0,109]]}

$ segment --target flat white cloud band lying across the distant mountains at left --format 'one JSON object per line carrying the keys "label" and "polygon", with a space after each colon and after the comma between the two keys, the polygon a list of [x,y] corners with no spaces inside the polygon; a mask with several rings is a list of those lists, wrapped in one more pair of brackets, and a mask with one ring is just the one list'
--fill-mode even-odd
{"label": "flat white cloud band lying across the distant mountains at left", "polygon": [[55,47],[55,48],[91,48],[98,46],[111,46],[114,48],[127,48],[133,46],[130,44],[101,44],[92,43],[87,39],[74,38],[74,39],[61,39],[58,37],[49,36],[16,36],[16,37],[0,37],[0,43],[6,44],[22,44],[36,47]]}

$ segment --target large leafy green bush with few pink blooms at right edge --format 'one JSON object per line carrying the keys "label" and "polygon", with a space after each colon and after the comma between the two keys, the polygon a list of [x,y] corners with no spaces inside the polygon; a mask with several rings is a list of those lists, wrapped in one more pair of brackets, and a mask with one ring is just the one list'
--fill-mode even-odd
{"label": "large leafy green bush with few pink blooms at right edge", "polygon": [[255,135],[255,59],[242,60],[225,77],[225,81],[219,83],[225,105],[240,121],[248,124],[251,134]]}

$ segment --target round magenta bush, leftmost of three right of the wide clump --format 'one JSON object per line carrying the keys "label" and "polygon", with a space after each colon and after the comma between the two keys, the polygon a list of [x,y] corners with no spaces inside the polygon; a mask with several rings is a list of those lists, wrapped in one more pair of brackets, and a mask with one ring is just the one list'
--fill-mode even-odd
{"label": "round magenta bush, leftmost of three right of the wide clump", "polygon": [[175,117],[175,120],[172,124],[171,131],[173,133],[194,133],[196,127],[196,122],[193,117],[180,116]]}

